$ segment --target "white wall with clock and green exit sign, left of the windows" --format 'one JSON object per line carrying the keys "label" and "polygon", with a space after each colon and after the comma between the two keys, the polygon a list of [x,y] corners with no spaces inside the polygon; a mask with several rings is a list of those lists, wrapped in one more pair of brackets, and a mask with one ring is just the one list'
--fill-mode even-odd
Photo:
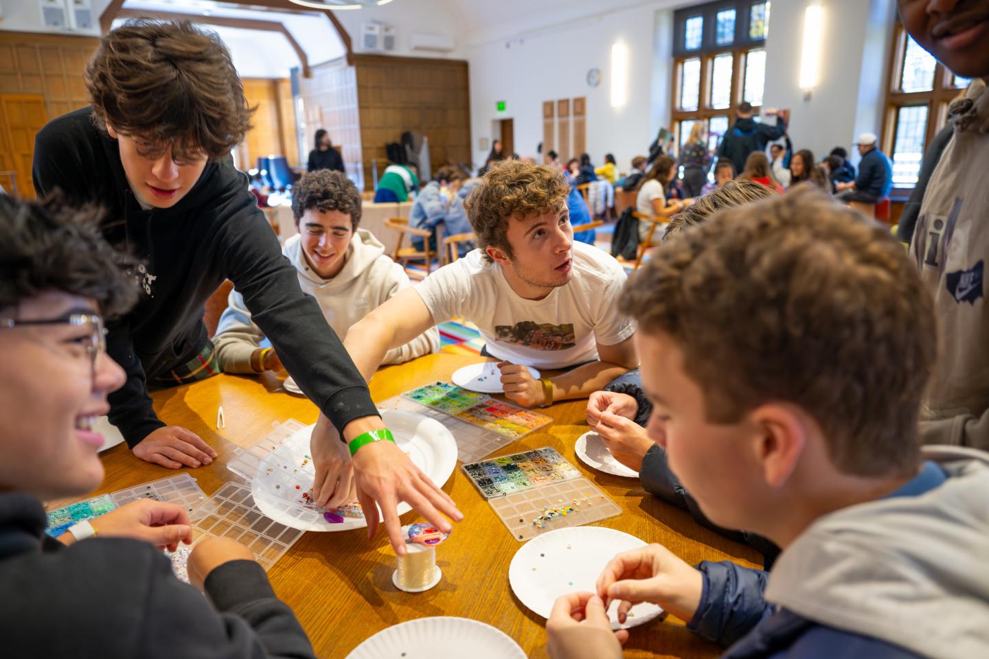
{"label": "white wall with clock and green exit sign, left of the windows", "polygon": [[[587,153],[595,164],[613,153],[619,169],[627,170],[633,156],[648,152],[659,126],[669,123],[672,12],[657,9],[673,4],[639,4],[471,45],[475,168],[488,155],[480,140],[492,139],[493,121],[514,120],[515,151],[535,157],[543,140],[543,102],[584,96]],[[612,108],[611,46],[618,41],[630,51],[628,99]],[[601,71],[594,88],[586,83],[592,68]],[[503,115],[496,111],[498,101],[507,104]]]}

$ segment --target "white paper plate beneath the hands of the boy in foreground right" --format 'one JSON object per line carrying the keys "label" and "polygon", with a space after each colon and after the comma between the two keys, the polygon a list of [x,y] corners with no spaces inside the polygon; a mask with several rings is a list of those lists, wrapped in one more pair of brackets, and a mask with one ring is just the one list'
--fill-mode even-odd
{"label": "white paper plate beneath the hands of the boy in foreground right", "polygon": [[[549,618],[561,595],[593,593],[597,577],[616,554],[646,546],[634,535],[604,527],[570,527],[537,535],[515,552],[508,566],[508,583],[515,596],[533,613]],[[533,569],[535,568],[535,569]],[[611,628],[628,628],[656,618],[655,604],[632,607],[625,624],[618,624],[618,603],[608,607]]]}

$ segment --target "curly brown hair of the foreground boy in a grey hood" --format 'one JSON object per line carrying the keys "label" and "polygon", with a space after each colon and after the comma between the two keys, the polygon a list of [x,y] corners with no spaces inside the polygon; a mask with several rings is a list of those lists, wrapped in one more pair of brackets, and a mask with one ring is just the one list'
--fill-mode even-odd
{"label": "curly brown hair of the foreground boy in a grey hood", "polygon": [[820,425],[843,472],[917,468],[935,317],[888,227],[801,186],[663,243],[619,308],[673,339],[710,422],[787,402]]}

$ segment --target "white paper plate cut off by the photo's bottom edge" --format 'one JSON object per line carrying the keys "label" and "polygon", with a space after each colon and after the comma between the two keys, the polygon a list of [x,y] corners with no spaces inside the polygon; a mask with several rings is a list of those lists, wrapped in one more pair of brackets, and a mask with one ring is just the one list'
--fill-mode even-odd
{"label": "white paper plate cut off by the photo's bottom edge", "polygon": [[346,659],[525,659],[518,643],[469,618],[417,618],[371,636]]}

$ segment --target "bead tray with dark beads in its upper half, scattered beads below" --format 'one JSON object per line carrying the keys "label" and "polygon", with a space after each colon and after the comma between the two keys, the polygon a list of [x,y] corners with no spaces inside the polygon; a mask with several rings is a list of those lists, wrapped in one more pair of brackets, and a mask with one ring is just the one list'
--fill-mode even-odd
{"label": "bead tray with dark beads in its upper half, scattered beads below", "polygon": [[465,464],[463,469],[520,542],[621,514],[615,502],[548,447]]}

